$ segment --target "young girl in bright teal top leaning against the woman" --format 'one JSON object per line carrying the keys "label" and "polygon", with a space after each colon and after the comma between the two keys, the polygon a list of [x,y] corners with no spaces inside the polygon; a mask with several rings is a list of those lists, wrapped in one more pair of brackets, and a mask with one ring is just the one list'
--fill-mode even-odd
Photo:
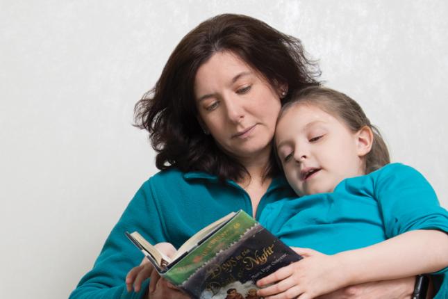
{"label": "young girl in bright teal top leaning against the woman", "polygon": [[259,280],[266,287],[258,296],[308,299],[362,282],[445,273],[447,211],[420,172],[389,164],[379,132],[353,99],[306,88],[283,106],[274,142],[300,197],[270,204],[260,223],[305,258]]}

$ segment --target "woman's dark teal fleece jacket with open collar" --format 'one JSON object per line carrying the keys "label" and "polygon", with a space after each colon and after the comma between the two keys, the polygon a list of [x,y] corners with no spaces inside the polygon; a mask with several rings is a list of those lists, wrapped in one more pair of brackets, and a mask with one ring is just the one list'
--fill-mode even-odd
{"label": "woman's dark teal fleece jacket with open collar", "polygon": [[[294,191],[283,177],[274,178],[258,204],[257,214],[266,204],[293,196]],[[150,243],[169,242],[179,248],[199,229],[240,209],[252,215],[249,195],[233,181],[221,183],[217,177],[203,172],[183,173],[175,169],[158,172],[144,182],[129,202],[92,270],[69,298],[142,298],[144,291],[126,291],[126,274],[140,264],[143,255],[124,232],[138,231]],[[147,289],[148,282],[142,290]]]}

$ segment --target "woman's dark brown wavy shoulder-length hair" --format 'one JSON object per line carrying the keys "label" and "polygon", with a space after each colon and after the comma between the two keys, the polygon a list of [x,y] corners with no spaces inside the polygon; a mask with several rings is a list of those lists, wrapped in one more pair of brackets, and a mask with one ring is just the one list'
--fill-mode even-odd
{"label": "woman's dark brown wavy shoulder-length hair", "polygon": [[[237,54],[272,86],[288,84],[288,95],[319,84],[315,78],[320,70],[306,58],[297,38],[244,15],[217,15],[202,22],[179,42],[156,86],[135,104],[135,126],[149,131],[158,169],[202,171],[235,181],[248,173],[204,134],[197,120],[194,79],[198,68],[219,51]],[[274,154],[271,161],[265,177],[279,171]]]}

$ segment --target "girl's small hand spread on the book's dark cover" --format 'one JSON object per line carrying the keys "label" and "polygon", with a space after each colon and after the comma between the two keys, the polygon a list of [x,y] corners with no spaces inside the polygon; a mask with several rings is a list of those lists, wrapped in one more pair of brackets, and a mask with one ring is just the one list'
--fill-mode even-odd
{"label": "girl's small hand spread on the book's dark cover", "polygon": [[292,248],[304,259],[285,266],[258,280],[265,289],[258,296],[272,299],[311,299],[347,286],[347,277],[335,255],[326,255],[306,248]]}

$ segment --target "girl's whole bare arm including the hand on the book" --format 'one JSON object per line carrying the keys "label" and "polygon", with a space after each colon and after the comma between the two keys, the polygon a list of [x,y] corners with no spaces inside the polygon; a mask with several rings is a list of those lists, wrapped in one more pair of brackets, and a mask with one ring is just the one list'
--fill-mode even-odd
{"label": "girl's whole bare arm including the hand on the book", "polygon": [[261,287],[274,283],[258,291],[259,296],[316,298],[345,286],[431,273],[448,266],[448,235],[436,230],[406,232],[334,255],[295,250],[304,259],[258,280]]}

